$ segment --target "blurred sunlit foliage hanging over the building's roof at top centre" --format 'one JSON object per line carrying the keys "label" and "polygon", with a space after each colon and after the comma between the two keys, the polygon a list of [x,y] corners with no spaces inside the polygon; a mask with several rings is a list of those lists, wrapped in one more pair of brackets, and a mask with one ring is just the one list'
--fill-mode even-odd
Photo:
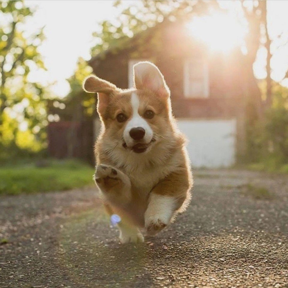
{"label": "blurred sunlit foliage hanging over the building's roof at top centre", "polygon": [[113,21],[104,20],[99,23],[93,33],[95,46],[91,49],[92,57],[101,55],[107,49],[116,52],[129,46],[129,38],[154,27],[164,19],[190,19],[193,15],[219,9],[216,0],[141,0],[135,1],[128,8],[125,7],[125,2],[116,0],[114,6],[122,9],[122,12]]}

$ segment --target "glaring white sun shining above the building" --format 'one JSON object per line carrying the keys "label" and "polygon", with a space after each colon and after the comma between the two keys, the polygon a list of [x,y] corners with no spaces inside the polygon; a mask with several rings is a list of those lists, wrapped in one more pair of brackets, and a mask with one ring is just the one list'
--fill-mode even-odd
{"label": "glaring white sun shining above the building", "polygon": [[195,16],[187,24],[192,37],[206,43],[213,51],[229,52],[244,44],[246,29],[228,14]]}

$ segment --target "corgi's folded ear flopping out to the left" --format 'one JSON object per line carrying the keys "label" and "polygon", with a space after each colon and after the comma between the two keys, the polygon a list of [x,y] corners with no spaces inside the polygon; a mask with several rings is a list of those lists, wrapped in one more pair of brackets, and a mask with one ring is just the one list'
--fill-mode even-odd
{"label": "corgi's folded ear flopping out to the left", "polygon": [[105,113],[113,93],[119,90],[116,85],[94,75],[88,76],[84,80],[83,89],[86,92],[98,93],[97,111],[100,115]]}

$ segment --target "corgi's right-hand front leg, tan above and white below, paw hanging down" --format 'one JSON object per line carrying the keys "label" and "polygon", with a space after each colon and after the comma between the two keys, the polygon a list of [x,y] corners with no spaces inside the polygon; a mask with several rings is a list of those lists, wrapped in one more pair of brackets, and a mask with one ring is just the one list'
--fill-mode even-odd
{"label": "corgi's right-hand front leg, tan above and white below, paw hanging down", "polygon": [[191,182],[188,171],[183,169],[171,173],[152,189],[145,212],[148,235],[155,235],[166,227],[183,203],[188,202]]}

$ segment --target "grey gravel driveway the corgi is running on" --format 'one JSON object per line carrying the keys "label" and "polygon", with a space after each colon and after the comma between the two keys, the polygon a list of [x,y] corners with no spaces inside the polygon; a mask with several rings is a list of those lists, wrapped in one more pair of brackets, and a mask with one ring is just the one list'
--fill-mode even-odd
{"label": "grey gravel driveway the corgi is running on", "polygon": [[137,246],[95,187],[0,197],[0,287],[288,287],[288,177],[195,174],[187,211]]}

